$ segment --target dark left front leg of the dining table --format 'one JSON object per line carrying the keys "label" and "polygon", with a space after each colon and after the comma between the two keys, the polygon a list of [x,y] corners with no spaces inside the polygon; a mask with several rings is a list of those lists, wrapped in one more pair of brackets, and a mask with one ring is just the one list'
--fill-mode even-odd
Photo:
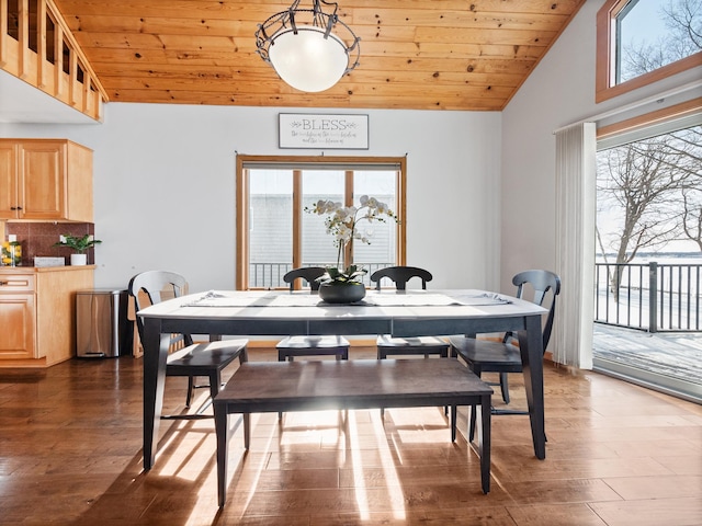
{"label": "dark left front leg of the dining table", "polygon": [[163,407],[169,336],[161,336],[159,320],[144,320],[144,469],[154,466]]}

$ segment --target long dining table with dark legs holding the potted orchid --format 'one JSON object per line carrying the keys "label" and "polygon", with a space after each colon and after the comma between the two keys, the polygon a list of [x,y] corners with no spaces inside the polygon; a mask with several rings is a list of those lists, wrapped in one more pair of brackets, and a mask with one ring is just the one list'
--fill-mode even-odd
{"label": "long dining table with dark legs holding the potted orchid", "polygon": [[531,301],[477,289],[369,290],[354,304],[327,304],[288,290],[207,290],[137,312],[144,321],[144,469],[156,461],[171,333],[227,336],[518,334],[534,455],[546,457],[542,316]]}

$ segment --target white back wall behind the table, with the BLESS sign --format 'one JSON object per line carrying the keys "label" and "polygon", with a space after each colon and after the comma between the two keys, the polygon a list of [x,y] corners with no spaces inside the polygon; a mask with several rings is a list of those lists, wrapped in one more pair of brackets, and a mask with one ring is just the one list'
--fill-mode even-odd
{"label": "white back wall behind the table, with the BLESS sign", "polygon": [[[234,288],[236,152],[321,153],[278,149],[281,112],[295,110],[110,103],[103,124],[0,124],[0,137],[94,150],[95,286],[169,268],[192,290]],[[408,264],[431,270],[433,288],[497,287],[500,114],[347,113],[370,115],[370,149],[326,155],[408,156]]]}

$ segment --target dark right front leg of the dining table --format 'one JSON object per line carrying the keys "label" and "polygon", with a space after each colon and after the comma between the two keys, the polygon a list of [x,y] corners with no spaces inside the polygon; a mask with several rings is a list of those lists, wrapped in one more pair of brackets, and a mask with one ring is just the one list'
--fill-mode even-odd
{"label": "dark right front leg of the dining table", "polygon": [[522,354],[524,387],[529,404],[531,434],[536,458],[546,458],[546,431],[544,426],[544,348],[541,317],[528,316],[525,331],[519,331]]}

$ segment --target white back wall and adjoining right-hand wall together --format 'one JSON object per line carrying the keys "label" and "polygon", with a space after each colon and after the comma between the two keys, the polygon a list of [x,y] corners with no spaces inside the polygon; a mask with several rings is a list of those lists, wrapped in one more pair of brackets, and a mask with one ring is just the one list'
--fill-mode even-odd
{"label": "white back wall and adjoining right-hand wall together", "polygon": [[[553,132],[702,78],[698,68],[596,104],[595,20],[602,2],[585,2],[501,114],[349,112],[370,115],[370,149],[326,155],[407,153],[407,261],[430,268],[434,288],[510,293],[520,270],[553,268]],[[0,124],[0,137],[66,137],[94,150],[95,232],[104,241],[95,249],[97,286],[171,268],[196,290],[231,288],[236,152],[320,153],[278,149],[278,114],[295,111],[307,112],[110,103],[100,125]]]}

